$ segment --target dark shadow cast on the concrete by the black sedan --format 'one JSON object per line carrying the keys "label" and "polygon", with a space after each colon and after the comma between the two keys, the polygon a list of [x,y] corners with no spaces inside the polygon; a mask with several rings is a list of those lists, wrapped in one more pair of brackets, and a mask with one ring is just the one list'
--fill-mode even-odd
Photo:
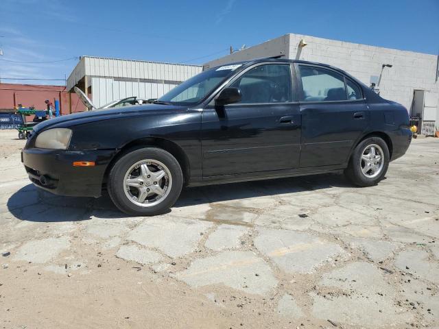
{"label": "dark shadow cast on the concrete by the black sedan", "polygon": [[[322,174],[196,186],[183,188],[180,198],[172,208],[300,193],[331,187],[349,188],[352,185],[344,179],[343,175]],[[102,219],[130,217],[120,212],[106,193],[97,199],[93,197],[63,197],[40,190],[32,184],[24,186],[11,195],[7,206],[17,219],[33,222],[84,221],[91,219],[92,216]],[[172,208],[169,213],[172,213]]]}

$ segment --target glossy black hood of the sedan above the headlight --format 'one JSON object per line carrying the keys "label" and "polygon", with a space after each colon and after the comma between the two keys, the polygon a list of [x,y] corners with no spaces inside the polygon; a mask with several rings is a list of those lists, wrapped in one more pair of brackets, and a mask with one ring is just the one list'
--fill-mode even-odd
{"label": "glossy black hood of the sedan above the headlight", "polygon": [[38,134],[38,132],[54,127],[71,127],[73,125],[80,125],[83,123],[91,123],[108,119],[121,119],[124,117],[136,117],[144,115],[152,116],[157,114],[160,115],[169,114],[172,112],[182,112],[186,110],[187,107],[185,106],[172,106],[162,104],[126,106],[123,108],[106,108],[102,110],[65,114],[62,117],[57,117],[38,123],[38,125],[34,126],[33,130],[35,133]]}

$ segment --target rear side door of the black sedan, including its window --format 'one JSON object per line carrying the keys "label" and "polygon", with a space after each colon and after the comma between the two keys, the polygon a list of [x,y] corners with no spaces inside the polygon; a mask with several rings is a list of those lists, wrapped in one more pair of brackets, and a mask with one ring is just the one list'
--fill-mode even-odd
{"label": "rear side door of the black sedan, including its window", "polygon": [[323,66],[296,64],[296,73],[302,114],[300,167],[345,164],[369,123],[361,88]]}

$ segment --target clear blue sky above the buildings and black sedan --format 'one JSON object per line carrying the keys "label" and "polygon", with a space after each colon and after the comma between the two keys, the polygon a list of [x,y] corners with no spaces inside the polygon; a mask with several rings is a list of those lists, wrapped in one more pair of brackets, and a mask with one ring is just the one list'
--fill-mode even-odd
{"label": "clear blue sky above the buildings and black sedan", "polygon": [[0,0],[0,79],[63,79],[78,60],[16,62],[81,55],[203,64],[286,33],[437,54],[439,0]]}

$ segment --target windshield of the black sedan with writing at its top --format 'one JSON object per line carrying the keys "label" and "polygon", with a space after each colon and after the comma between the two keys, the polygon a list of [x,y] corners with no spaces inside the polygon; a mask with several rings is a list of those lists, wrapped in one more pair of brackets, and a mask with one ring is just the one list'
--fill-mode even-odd
{"label": "windshield of the black sedan with writing at its top", "polygon": [[204,71],[182,82],[182,84],[170,90],[169,93],[157,99],[157,102],[195,105],[204,99],[206,95],[209,95],[216,86],[229,77],[239,66],[241,64],[219,66]]}

